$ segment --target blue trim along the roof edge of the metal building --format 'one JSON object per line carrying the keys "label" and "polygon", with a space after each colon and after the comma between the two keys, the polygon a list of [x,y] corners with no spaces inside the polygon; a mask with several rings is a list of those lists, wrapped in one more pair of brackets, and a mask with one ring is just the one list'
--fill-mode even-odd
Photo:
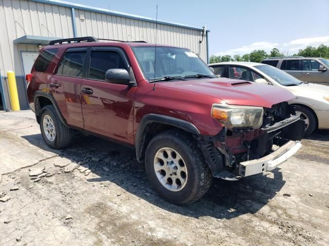
{"label": "blue trim along the roof edge of the metal building", "polygon": [[[144,17],[144,16],[140,16],[140,15],[127,14],[127,13],[123,13],[123,12],[119,12],[119,11],[96,8],[96,7],[91,7],[91,6],[82,5],[82,4],[74,4],[74,3],[69,3],[69,2],[60,1],[60,0],[30,0],[30,1],[43,3],[43,4],[57,5],[57,6],[71,8],[71,9],[80,9],[80,10],[92,11],[92,12],[96,12],[96,13],[115,15],[115,16],[126,17],[126,18],[137,19],[137,20],[144,20],[146,22],[152,22],[152,23],[156,23],[156,21],[157,21],[158,24],[203,31],[202,28],[198,28],[198,27],[193,27],[193,26],[188,26],[188,25],[173,23],[173,22],[166,22],[164,20],[156,20],[153,18]],[[72,17],[73,17],[73,15],[72,15]],[[206,32],[210,32],[210,31],[206,30]]]}

